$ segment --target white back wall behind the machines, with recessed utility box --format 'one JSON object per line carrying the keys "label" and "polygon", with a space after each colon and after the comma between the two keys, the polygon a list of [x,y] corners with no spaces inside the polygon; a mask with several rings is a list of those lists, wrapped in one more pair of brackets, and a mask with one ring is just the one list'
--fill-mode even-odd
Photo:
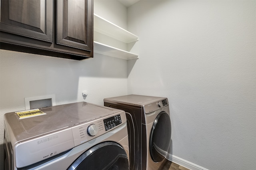
{"label": "white back wall behind the machines, with recessed utility box", "polygon": [[[126,26],[126,8],[111,1],[112,8],[95,11]],[[125,13],[125,15],[124,15]],[[98,14],[98,15],[100,15]],[[102,17],[104,17],[102,16]],[[82,92],[87,90],[86,99]],[[24,98],[54,94],[56,104],[90,102],[104,105],[103,99],[127,94],[127,61],[94,54],[93,59],[74,61],[0,50],[0,169],[3,169],[4,113],[25,109]]]}

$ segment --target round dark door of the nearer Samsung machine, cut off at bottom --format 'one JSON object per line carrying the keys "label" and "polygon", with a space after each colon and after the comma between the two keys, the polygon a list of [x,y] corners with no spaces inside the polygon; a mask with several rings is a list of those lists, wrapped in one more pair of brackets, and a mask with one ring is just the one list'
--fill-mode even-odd
{"label": "round dark door of the nearer Samsung machine, cut off at bottom", "polygon": [[104,142],[86,150],[68,170],[128,170],[125,150],[114,142]]}

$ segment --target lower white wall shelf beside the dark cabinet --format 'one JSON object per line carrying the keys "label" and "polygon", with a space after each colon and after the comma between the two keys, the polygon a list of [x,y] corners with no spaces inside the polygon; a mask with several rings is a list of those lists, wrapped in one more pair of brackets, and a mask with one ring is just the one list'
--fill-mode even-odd
{"label": "lower white wall shelf beside the dark cabinet", "polygon": [[138,55],[94,41],[94,53],[125,60],[138,59]]}

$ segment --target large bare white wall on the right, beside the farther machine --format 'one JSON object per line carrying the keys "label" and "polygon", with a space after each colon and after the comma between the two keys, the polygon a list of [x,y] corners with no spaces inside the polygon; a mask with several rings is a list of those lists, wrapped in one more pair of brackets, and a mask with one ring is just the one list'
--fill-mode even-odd
{"label": "large bare white wall on the right, beside the farther machine", "polygon": [[256,1],[142,0],[128,29],[140,37],[128,94],[168,97],[169,159],[256,169]]}

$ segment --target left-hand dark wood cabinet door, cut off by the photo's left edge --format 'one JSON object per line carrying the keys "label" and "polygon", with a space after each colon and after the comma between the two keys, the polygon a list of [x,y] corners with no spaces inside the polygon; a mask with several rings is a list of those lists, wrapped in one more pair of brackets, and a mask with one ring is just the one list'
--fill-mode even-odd
{"label": "left-hand dark wood cabinet door, cut off by the photo's left edge", "polygon": [[1,0],[0,30],[53,42],[52,0]]}

